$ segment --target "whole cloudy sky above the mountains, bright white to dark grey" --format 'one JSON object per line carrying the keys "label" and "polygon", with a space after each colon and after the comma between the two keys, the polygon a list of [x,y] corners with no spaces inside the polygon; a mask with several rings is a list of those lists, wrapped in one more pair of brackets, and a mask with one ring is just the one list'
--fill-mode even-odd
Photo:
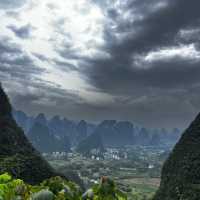
{"label": "whole cloudy sky above the mountains, bright white to dark grey", "polygon": [[0,0],[16,109],[184,128],[200,111],[199,0]]}

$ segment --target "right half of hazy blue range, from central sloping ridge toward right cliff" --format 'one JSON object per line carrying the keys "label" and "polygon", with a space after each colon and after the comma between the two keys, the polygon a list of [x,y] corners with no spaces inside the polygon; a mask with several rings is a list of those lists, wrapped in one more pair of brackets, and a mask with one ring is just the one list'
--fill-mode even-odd
{"label": "right half of hazy blue range, from central sloping ridge toward right cliff", "polygon": [[[179,129],[147,129],[134,126],[128,121],[105,120],[94,130],[93,134],[79,143],[77,150],[88,153],[97,149],[119,148],[132,145],[173,147],[181,136]],[[84,149],[85,147],[85,149]]]}

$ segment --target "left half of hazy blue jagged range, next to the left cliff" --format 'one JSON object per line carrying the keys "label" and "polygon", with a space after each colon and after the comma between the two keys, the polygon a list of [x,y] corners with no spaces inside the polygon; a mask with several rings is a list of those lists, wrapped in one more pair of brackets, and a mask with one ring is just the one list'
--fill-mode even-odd
{"label": "left half of hazy blue jagged range, next to the left cliff", "polygon": [[83,120],[76,123],[59,116],[48,120],[42,113],[32,117],[14,110],[13,117],[35,148],[45,153],[70,151],[71,147],[87,138],[96,127]]}

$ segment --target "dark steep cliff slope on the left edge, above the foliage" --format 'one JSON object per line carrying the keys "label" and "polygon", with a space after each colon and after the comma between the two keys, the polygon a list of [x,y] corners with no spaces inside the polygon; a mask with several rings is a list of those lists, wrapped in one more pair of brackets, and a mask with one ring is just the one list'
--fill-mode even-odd
{"label": "dark steep cliff slope on the left edge, above the foliage", "polygon": [[0,86],[0,173],[7,171],[31,184],[55,176],[17,126],[11,111],[9,99]]}

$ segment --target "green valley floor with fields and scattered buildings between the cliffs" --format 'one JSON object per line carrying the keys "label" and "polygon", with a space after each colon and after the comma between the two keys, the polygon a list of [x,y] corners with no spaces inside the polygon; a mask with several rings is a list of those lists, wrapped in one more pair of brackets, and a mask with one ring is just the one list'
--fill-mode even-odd
{"label": "green valley floor with fields and scattered buildings between the cliffs", "polygon": [[[135,158],[121,160],[96,160],[78,153],[62,159],[47,159],[55,169],[66,175],[78,174],[86,188],[90,188],[100,177],[109,176],[121,190],[127,192],[129,199],[145,199],[158,189],[160,171],[165,160],[163,151],[152,151],[140,149],[139,153],[135,152]],[[143,157],[140,158],[138,154]]]}

